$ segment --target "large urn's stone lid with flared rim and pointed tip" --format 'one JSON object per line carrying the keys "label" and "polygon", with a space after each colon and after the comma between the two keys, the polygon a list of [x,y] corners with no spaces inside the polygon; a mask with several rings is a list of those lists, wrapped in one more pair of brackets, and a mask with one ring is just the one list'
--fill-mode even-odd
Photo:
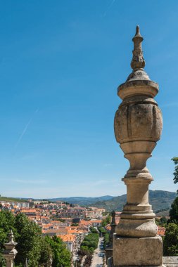
{"label": "large urn's stone lid with flared rim and pointed tip", "polygon": [[118,87],[118,96],[125,99],[129,96],[147,95],[152,98],[158,93],[158,84],[151,81],[148,74],[144,71],[145,60],[141,47],[144,38],[140,34],[139,26],[136,26],[136,34],[132,41],[134,42],[134,50],[132,51],[131,67],[132,73],[129,74],[124,84]]}

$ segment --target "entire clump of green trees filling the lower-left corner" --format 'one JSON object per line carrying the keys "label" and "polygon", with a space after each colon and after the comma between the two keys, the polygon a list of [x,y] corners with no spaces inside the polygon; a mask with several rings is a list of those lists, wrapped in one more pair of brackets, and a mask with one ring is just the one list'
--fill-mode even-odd
{"label": "entire clump of green trees filling the lower-left corner", "polygon": [[[36,223],[29,221],[24,214],[13,216],[11,211],[0,212],[0,266],[5,267],[2,256],[3,244],[8,240],[7,234],[13,230],[15,247],[18,254],[15,257],[15,267],[23,267],[28,259],[29,267],[46,266],[51,254],[53,267],[70,267],[70,252],[58,237],[42,237],[42,230]],[[51,242],[49,242],[51,240]]]}

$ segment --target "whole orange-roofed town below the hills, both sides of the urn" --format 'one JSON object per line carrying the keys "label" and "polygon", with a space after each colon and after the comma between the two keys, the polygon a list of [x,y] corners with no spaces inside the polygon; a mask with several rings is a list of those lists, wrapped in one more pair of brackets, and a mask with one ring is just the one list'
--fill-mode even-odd
{"label": "whole orange-roofed town below the hills, both sides of the urn", "polygon": [[[15,216],[25,214],[30,221],[42,228],[43,236],[60,237],[70,251],[73,262],[79,259],[78,253],[84,237],[94,232],[95,229],[96,233],[101,235],[99,244],[101,249],[96,256],[103,262],[105,254],[103,249],[106,246],[102,247],[104,240],[102,233],[109,235],[111,229],[110,223],[106,223],[106,218],[109,216],[106,209],[80,207],[79,204],[63,201],[49,202],[48,200],[32,199],[15,201],[5,197],[3,199],[0,200],[1,211],[11,211]],[[120,214],[120,211],[115,213],[115,224],[119,223]],[[157,222],[160,224],[160,226],[158,225],[158,235],[160,236],[165,235],[165,227],[161,226],[160,223],[163,218],[168,219],[168,217],[163,216],[157,218]]]}

